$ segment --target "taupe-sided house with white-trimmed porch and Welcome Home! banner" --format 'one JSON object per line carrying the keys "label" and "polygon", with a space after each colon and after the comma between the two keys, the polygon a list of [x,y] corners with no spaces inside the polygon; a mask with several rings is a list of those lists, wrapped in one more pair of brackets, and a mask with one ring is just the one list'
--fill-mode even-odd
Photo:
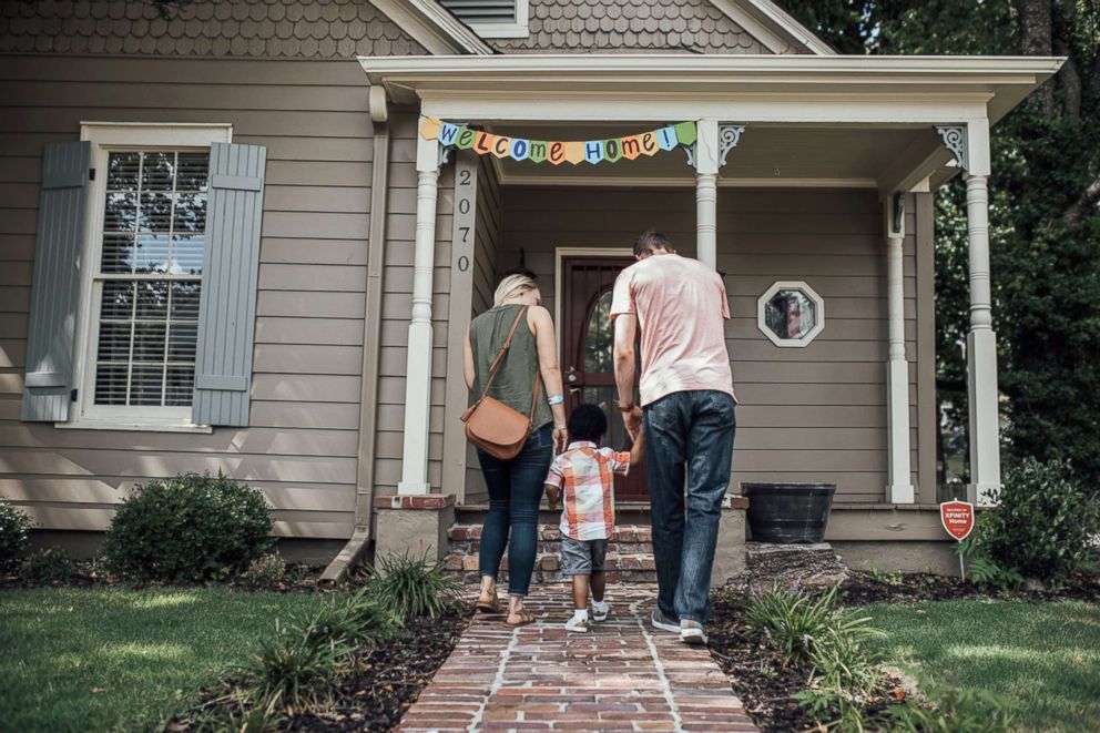
{"label": "taupe-sided house with white-trimmed porch and Welcome Home! banner", "polygon": [[607,400],[605,294],[652,226],[725,278],[731,493],[835,483],[849,562],[949,569],[933,192],[960,173],[969,495],[999,482],[989,128],[1059,59],[838,55],[771,0],[0,8],[0,495],[43,541],[221,469],[332,573],[442,552],[486,499],[460,344],[493,281],[538,275],[572,398]]}

